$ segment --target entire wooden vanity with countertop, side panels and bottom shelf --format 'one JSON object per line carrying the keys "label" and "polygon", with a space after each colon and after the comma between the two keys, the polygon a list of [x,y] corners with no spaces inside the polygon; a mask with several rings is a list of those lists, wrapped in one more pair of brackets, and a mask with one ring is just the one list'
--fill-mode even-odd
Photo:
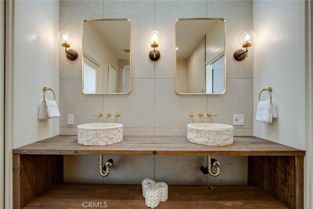
{"label": "entire wooden vanity with countertop, side panels and bottom shelf", "polygon": [[77,136],[56,136],[13,149],[14,209],[78,209],[84,201],[146,208],[141,186],[62,184],[64,155],[248,156],[249,186],[170,186],[169,200],[158,208],[304,208],[305,151],[279,143],[234,137],[234,144],[215,147],[182,136],[124,136],[120,143],[84,146]]}

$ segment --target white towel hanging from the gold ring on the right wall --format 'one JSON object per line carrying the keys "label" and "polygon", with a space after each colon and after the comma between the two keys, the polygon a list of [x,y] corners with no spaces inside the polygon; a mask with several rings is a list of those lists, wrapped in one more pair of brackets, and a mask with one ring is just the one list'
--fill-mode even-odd
{"label": "white towel hanging from the gold ring on the right wall", "polygon": [[277,117],[276,108],[271,104],[270,100],[260,101],[256,113],[256,120],[263,123],[271,123],[273,118]]}

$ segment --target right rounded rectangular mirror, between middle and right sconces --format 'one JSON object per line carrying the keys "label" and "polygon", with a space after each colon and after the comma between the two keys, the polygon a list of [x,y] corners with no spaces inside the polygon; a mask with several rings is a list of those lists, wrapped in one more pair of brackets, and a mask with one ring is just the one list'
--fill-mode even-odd
{"label": "right rounded rectangular mirror, between middle and right sconces", "polygon": [[179,19],[176,23],[176,92],[225,92],[224,19]]}

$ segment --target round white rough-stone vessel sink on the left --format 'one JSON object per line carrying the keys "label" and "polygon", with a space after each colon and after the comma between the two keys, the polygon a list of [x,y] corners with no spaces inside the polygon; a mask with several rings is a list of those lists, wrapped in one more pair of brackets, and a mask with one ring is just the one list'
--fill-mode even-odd
{"label": "round white rough-stone vessel sink on the left", "polygon": [[120,123],[88,123],[77,126],[78,143],[83,145],[107,145],[123,140]]}

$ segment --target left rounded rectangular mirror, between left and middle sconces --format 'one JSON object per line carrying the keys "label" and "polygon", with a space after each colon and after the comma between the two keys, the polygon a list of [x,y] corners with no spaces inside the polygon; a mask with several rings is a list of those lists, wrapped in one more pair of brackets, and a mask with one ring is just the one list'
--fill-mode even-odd
{"label": "left rounded rectangular mirror, between left and middle sconces", "polygon": [[127,19],[83,22],[83,92],[130,93],[131,23]]}

